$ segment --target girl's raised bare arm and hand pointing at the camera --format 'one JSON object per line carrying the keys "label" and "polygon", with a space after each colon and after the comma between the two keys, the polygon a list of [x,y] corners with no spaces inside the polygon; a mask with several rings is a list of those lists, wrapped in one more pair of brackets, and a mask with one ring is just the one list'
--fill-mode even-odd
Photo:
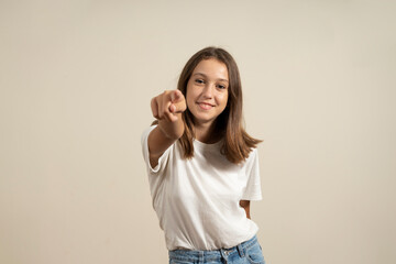
{"label": "girl's raised bare arm and hand pointing at the camera", "polygon": [[158,125],[148,135],[150,164],[155,167],[162,154],[184,133],[182,112],[186,100],[179,90],[167,90],[151,100],[151,108]]}

